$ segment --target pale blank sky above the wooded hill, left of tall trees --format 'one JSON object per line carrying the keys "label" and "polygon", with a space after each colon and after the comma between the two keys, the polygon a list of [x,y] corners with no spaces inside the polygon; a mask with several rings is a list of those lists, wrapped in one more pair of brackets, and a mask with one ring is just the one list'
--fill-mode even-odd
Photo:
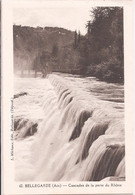
{"label": "pale blank sky above the wooded hill, left of tall trees", "polygon": [[62,27],[86,34],[86,23],[91,19],[89,1],[42,1],[25,3],[13,10],[13,23],[22,26]]}

